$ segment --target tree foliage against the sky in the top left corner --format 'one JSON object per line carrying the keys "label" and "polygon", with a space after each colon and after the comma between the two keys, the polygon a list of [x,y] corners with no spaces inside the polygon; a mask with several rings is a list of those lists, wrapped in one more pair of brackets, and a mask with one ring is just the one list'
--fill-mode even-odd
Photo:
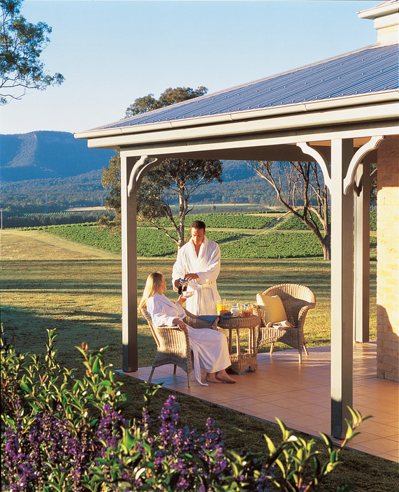
{"label": "tree foliage against the sky in the top left corner", "polygon": [[0,104],[21,99],[27,89],[44,90],[64,82],[61,73],[48,75],[40,59],[52,28],[31,24],[20,14],[22,0],[1,0]]}

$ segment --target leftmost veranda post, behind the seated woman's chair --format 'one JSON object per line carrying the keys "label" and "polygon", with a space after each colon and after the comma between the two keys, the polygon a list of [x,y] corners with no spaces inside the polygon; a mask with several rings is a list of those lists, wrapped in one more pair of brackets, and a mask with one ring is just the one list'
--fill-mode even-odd
{"label": "leftmost veranda post, behind the seated woman's chair", "polygon": [[122,368],[138,370],[137,335],[137,223],[136,188],[128,196],[128,183],[136,159],[121,159],[121,226],[122,226]]}

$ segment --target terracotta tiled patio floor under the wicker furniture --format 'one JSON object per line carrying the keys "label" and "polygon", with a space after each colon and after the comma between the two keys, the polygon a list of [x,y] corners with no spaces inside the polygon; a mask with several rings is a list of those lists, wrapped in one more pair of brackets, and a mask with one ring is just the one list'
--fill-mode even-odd
{"label": "terracotta tiled patio floor under the wicker furniture", "polygon": [[[201,386],[191,373],[173,366],[156,368],[152,382],[242,413],[319,436],[330,429],[330,347],[313,347],[298,364],[298,351],[259,354],[259,369],[238,375],[238,384]],[[399,384],[376,377],[376,344],[354,344],[354,408],[372,414],[349,447],[399,462]],[[147,379],[151,368],[139,368],[132,377]],[[235,377],[235,375],[234,375]],[[203,379],[204,380],[204,379]],[[335,440],[338,442],[338,440]]]}

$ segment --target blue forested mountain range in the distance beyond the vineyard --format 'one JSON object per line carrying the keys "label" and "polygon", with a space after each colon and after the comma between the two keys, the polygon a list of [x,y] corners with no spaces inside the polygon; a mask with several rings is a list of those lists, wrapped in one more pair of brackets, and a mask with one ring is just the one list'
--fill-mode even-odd
{"label": "blue forested mountain range in the distance beyond the vineyard", "polygon": [[[0,135],[0,206],[38,212],[101,205],[108,195],[102,169],[113,155],[62,131]],[[242,161],[224,161],[222,178],[200,187],[191,203],[277,204],[270,185]]]}

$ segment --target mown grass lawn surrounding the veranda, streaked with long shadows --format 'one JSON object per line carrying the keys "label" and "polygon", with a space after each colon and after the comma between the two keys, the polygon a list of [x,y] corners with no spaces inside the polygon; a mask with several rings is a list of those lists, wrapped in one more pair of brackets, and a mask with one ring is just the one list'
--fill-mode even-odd
{"label": "mown grass lawn surrounding the veranda, streaked with long shadows", "polygon": [[[44,234],[44,233],[43,233]],[[47,235],[46,235],[47,236]],[[9,246],[10,236],[1,233],[2,252]],[[36,236],[38,240],[38,236]],[[121,267],[115,256],[102,259],[88,257],[87,250],[68,259],[65,247],[43,247],[38,257],[34,240],[19,236],[8,247],[6,261],[1,261],[1,321],[8,336],[15,335],[20,352],[43,352],[45,330],[56,328],[59,361],[68,368],[78,368],[82,375],[75,345],[82,341],[91,349],[108,346],[107,360],[115,368],[122,367],[121,341]],[[73,246],[74,248],[76,245]],[[63,254],[61,254],[63,251]],[[4,256],[2,256],[3,258]],[[23,257],[24,259],[18,259]],[[143,290],[148,273],[160,270],[171,279],[173,259],[139,259],[138,290]],[[375,338],[375,263],[371,266],[371,336]],[[330,340],[330,265],[321,259],[224,260],[218,288],[222,297],[232,302],[254,302],[256,293],[274,284],[293,282],[308,285],[316,294],[317,308],[307,315],[305,336],[309,346],[326,345]],[[245,292],[245,294],[242,294]],[[169,292],[171,298],[174,294]],[[143,319],[140,319],[139,364],[149,366],[155,343]],[[283,348],[280,346],[280,349]],[[277,349],[277,347],[276,347]],[[138,417],[143,405],[143,386],[133,378],[121,377],[128,397],[123,413]],[[171,391],[161,390],[154,397],[152,410],[159,414]],[[226,435],[228,449],[266,451],[262,435],[280,440],[275,424],[247,417],[187,395],[178,395],[182,407],[182,424],[205,429],[208,416],[218,422]],[[319,449],[324,444],[317,442]],[[326,455],[325,455],[326,456]],[[397,464],[375,456],[345,450],[343,463],[324,485],[333,491],[344,482],[356,484],[358,491],[392,492],[397,479]]]}

